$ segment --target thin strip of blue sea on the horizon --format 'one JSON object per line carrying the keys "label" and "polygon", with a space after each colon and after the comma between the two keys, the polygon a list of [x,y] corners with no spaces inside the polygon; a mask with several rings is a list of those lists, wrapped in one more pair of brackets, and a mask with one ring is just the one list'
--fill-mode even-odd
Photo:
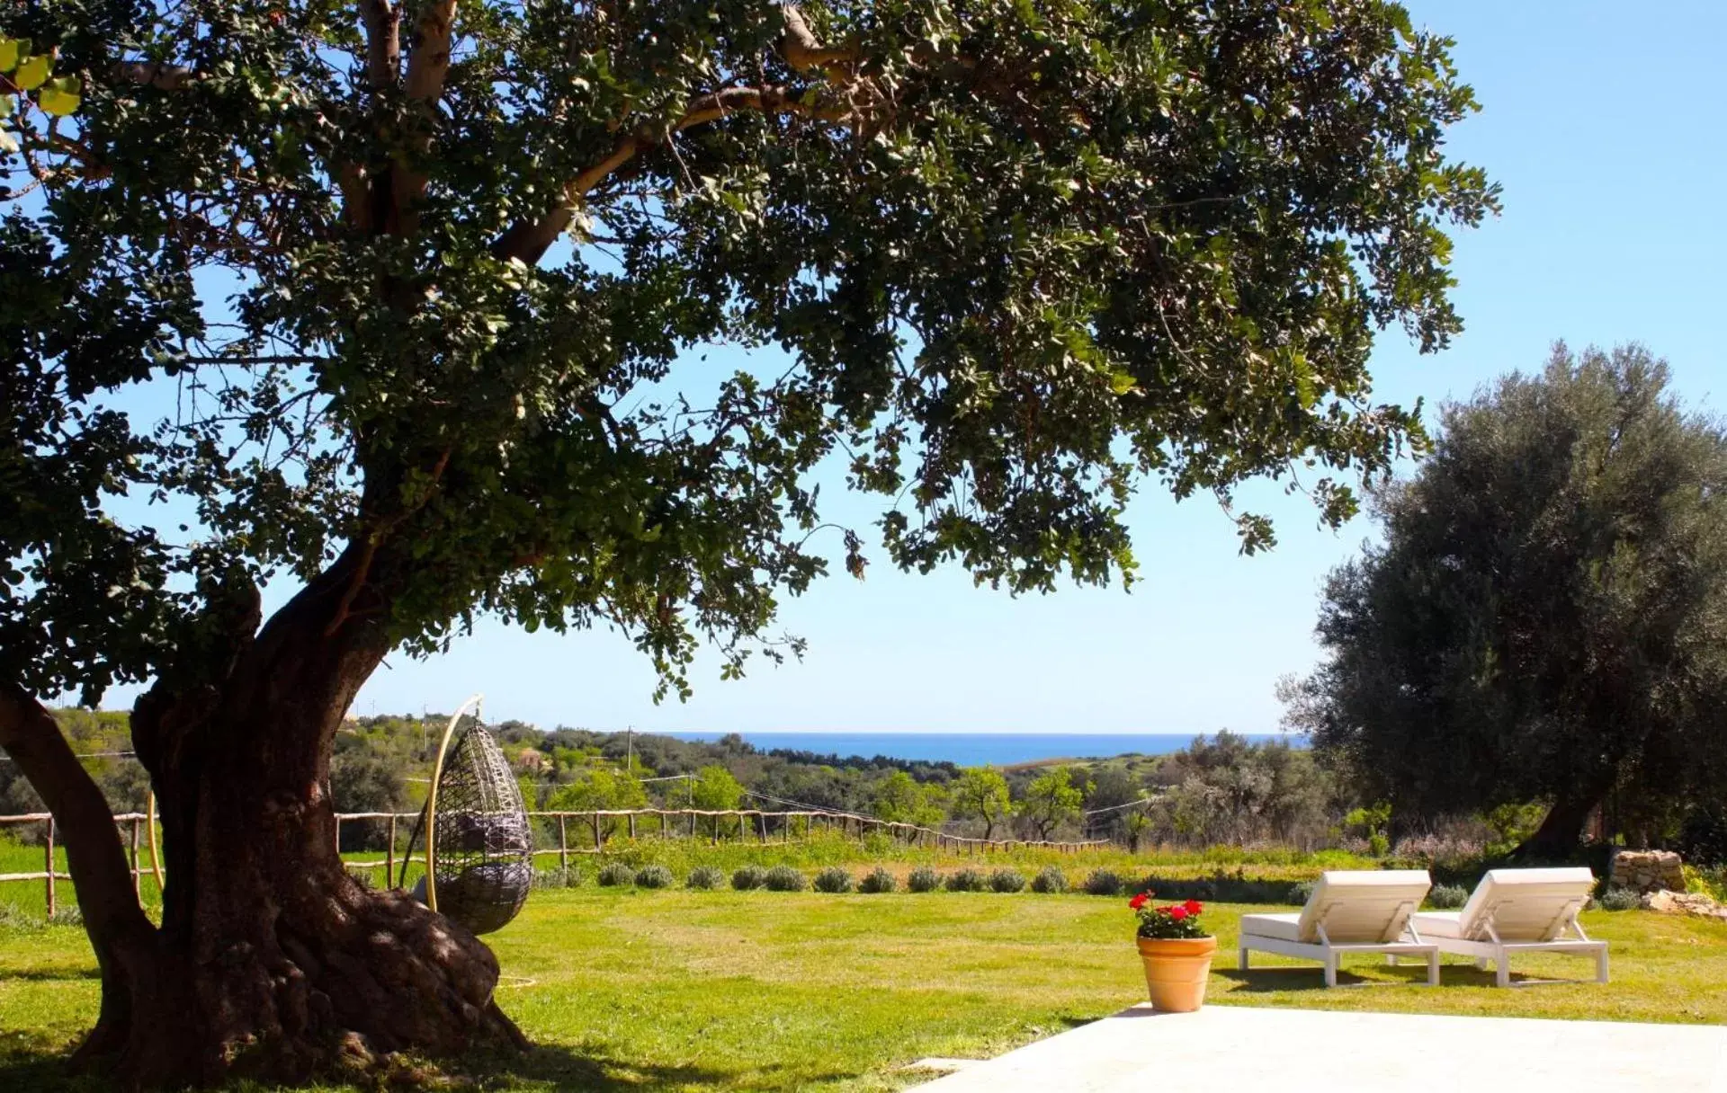
{"label": "thin strip of blue sea on the horizon", "polygon": [[[717,741],[725,732],[667,732],[680,741]],[[1167,755],[1192,744],[1199,734],[1114,734],[1114,732],[741,732],[756,751],[786,748],[874,758],[948,761],[960,767],[1009,767],[1038,760],[1105,758],[1126,755]],[[1287,739],[1302,746],[1299,736],[1281,732],[1243,732],[1249,741]]]}

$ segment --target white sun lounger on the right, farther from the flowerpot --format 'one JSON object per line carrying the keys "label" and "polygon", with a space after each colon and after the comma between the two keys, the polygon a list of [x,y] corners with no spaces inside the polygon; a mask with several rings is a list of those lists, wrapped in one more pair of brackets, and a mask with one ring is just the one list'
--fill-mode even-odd
{"label": "white sun lounger on the right, farther from the flowerpot", "polygon": [[1477,967],[1492,960],[1499,986],[1511,986],[1513,953],[1594,957],[1596,982],[1606,982],[1608,943],[1591,941],[1577,922],[1594,888],[1584,867],[1494,869],[1461,912],[1420,912],[1413,926],[1440,951],[1475,957]]}

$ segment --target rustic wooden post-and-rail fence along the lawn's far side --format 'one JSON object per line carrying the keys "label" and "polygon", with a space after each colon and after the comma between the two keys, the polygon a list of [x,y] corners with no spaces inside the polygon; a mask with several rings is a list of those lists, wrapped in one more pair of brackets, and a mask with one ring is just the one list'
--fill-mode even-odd
{"label": "rustic wooden post-and-rail fence along the lawn's far side", "polygon": [[[572,855],[580,856],[603,853],[606,843],[617,837],[613,829],[618,829],[618,834],[627,832],[627,837],[630,839],[706,837],[710,844],[722,841],[760,844],[770,844],[775,841],[791,843],[794,837],[810,837],[819,831],[832,831],[862,839],[865,834],[874,831],[888,834],[896,841],[903,841],[908,846],[922,846],[957,855],[986,855],[991,851],[1017,848],[1041,848],[1071,855],[1090,846],[1109,844],[1109,839],[1091,839],[1085,843],[1060,843],[1050,839],[974,839],[967,836],[952,836],[945,831],[936,831],[934,827],[879,820],[876,817],[850,812],[767,812],[758,808],[599,808],[587,812],[530,812],[528,817],[547,820],[546,827],[554,831],[558,839],[556,846],[535,848],[534,856],[541,858],[556,855],[558,865],[565,869],[568,869]],[[406,820],[411,827],[418,818],[418,812],[338,812],[335,817],[335,844],[338,848],[342,846],[344,820],[383,820],[383,856],[366,862],[347,862],[347,867],[364,870],[382,869],[385,881],[389,881],[389,877],[395,875],[395,865],[399,862],[395,848],[399,844],[402,820]],[[142,812],[123,812],[114,817],[114,824],[126,832],[131,846],[133,891],[142,891],[145,877],[150,877],[159,889],[162,884],[162,862],[155,846],[154,820],[154,815]],[[572,820],[577,824],[572,825]],[[71,874],[55,869],[54,817],[45,812],[0,817],[0,829],[17,825],[43,825],[43,865],[40,872],[0,874],[0,884],[41,881],[47,896],[47,910],[52,917],[55,913],[59,896],[55,882],[73,879]],[[143,862],[140,855],[145,846],[150,851],[149,862]]]}

